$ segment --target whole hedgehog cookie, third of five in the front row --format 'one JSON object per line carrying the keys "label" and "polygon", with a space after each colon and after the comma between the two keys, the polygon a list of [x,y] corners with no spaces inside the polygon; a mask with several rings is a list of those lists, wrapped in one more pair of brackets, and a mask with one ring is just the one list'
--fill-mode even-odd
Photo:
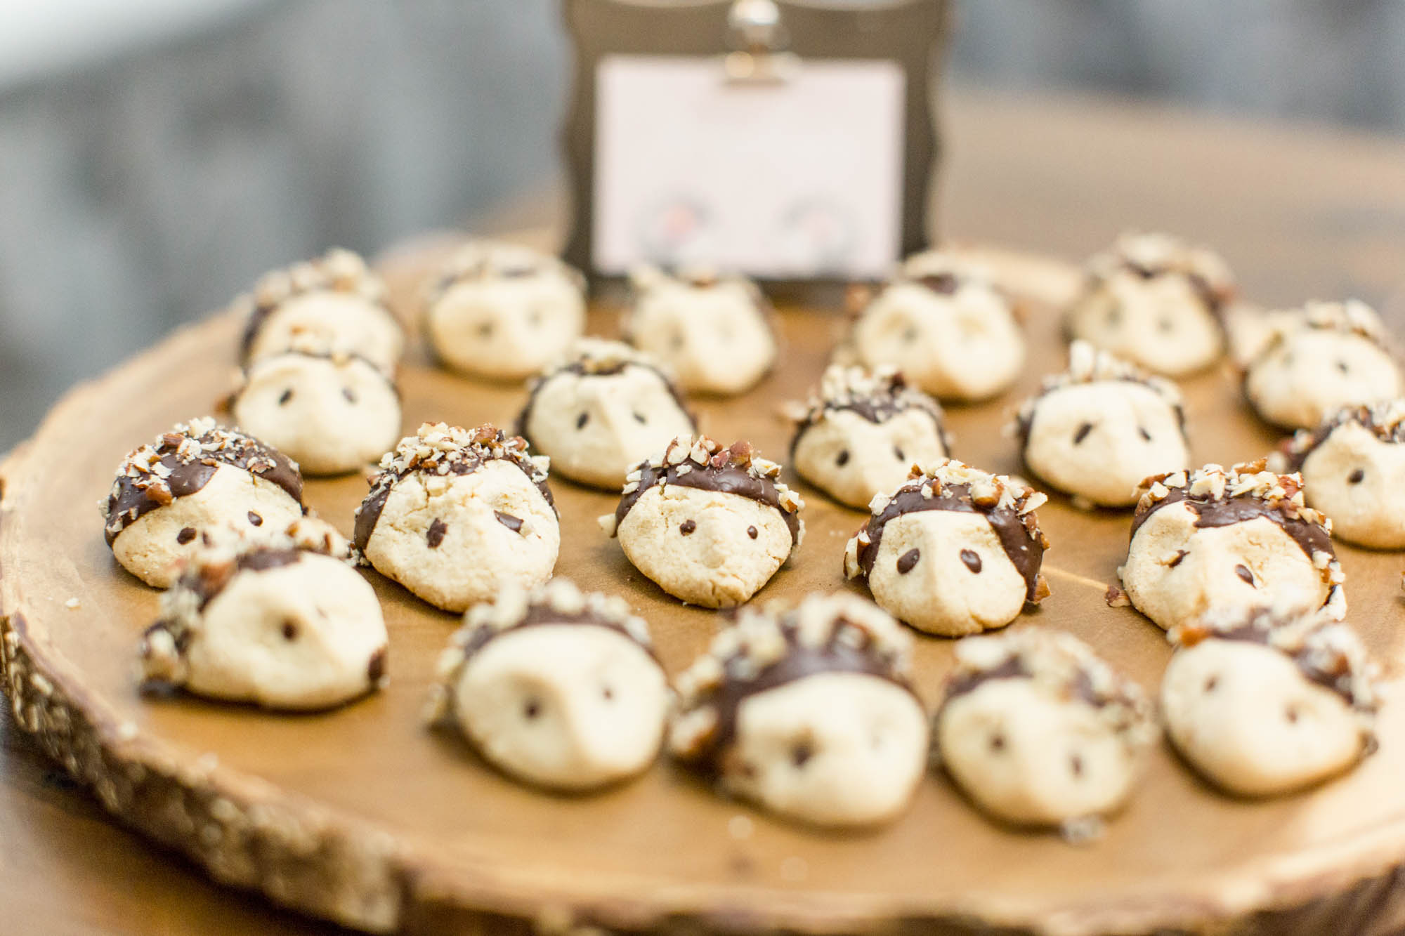
{"label": "whole hedgehog cookie, third of five in the front row", "polygon": [[850,594],[743,610],[677,679],[669,749],[719,787],[823,826],[888,822],[926,770],[910,639]]}

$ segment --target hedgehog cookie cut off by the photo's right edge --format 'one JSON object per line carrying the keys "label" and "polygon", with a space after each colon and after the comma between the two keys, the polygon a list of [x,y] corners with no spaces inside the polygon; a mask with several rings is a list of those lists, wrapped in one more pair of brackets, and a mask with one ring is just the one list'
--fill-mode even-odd
{"label": "hedgehog cookie cut off by the photo's right edge", "polygon": [[1338,410],[1300,430],[1283,461],[1302,475],[1308,506],[1332,535],[1373,550],[1405,550],[1405,399]]}

